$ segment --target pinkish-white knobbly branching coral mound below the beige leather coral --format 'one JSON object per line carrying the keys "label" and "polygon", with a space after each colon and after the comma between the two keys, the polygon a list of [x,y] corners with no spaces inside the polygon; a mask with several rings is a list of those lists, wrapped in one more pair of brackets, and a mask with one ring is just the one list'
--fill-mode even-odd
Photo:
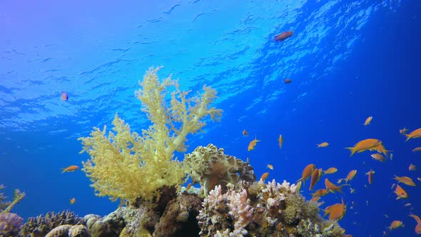
{"label": "pinkish-white knobbly branching coral mound below the beige leather coral", "polygon": [[275,180],[241,181],[210,191],[198,215],[201,236],[344,236],[338,223],[325,221],[296,186]]}

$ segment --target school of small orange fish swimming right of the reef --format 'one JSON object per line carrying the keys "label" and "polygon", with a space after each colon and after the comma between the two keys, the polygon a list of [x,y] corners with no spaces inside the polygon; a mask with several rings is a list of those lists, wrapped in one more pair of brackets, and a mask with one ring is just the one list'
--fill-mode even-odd
{"label": "school of small orange fish swimming right of the reef", "polygon": [[[368,126],[372,121],[372,116],[368,117],[365,120],[365,123],[363,123],[364,126]],[[414,131],[407,133],[407,128],[402,128],[400,129],[400,133],[404,136],[406,136],[406,141],[412,139],[412,138],[421,138],[421,128],[417,128]],[[247,131],[243,131],[243,136],[248,136],[248,132]],[[283,136],[280,135],[278,138],[278,144],[279,144],[279,148],[282,148],[283,146]],[[257,138],[254,138],[253,141],[250,141],[250,143],[248,144],[248,151],[252,151],[255,149],[255,146],[258,143]],[[329,143],[328,142],[323,142],[317,145],[317,148],[325,148],[328,147]],[[393,158],[393,154],[390,153],[390,151],[388,151],[385,146],[382,144],[382,141],[380,141],[379,139],[375,139],[375,138],[367,138],[364,139],[362,141],[358,141],[355,146],[352,147],[346,147],[348,150],[350,150],[350,156],[354,156],[355,153],[361,153],[363,151],[375,151],[376,153],[372,153],[371,157],[377,161],[380,162],[384,162],[386,161],[386,158],[390,158],[392,160]],[[412,150],[412,152],[417,152],[417,151],[421,151],[421,147],[417,147],[414,148]],[[389,156],[390,153],[390,156]],[[270,170],[273,170],[273,165],[268,164],[267,168],[269,168]],[[417,166],[415,166],[413,163],[410,164],[408,170],[409,171],[415,171],[417,169]],[[315,184],[318,183],[318,181],[320,181],[321,176],[323,175],[328,175],[331,173],[336,173],[338,171],[338,168],[335,167],[330,167],[327,170],[323,171],[322,168],[316,168],[315,164],[310,163],[308,166],[305,166],[305,168],[303,169],[303,173],[301,175],[301,178],[298,179],[298,181],[296,182],[297,184],[297,189],[298,191],[300,191],[300,188],[304,185],[304,182],[308,179],[310,179],[310,186],[309,186],[309,190],[313,191],[313,188],[315,187]],[[328,195],[328,193],[335,193],[336,191],[343,193],[342,188],[344,186],[351,186],[350,181],[352,181],[352,178],[355,177],[355,175],[357,174],[357,170],[354,169],[352,171],[349,171],[348,175],[346,176],[346,178],[340,178],[337,183],[343,183],[342,185],[335,185],[334,183],[332,183],[328,178],[325,178],[325,188],[320,188],[318,190],[316,190],[314,193],[312,193],[312,198],[310,199],[310,201],[313,201],[315,203],[318,204],[318,206],[322,206],[324,204],[324,202],[319,202],[320,198],[322,196]],[[367,173],[365,173],[365,175],[367,176],[367,180],[369,184],[372,184],[372,180],[373,180],[373,176],[375,174],[375,171],[370,170]],[[268,178],[269,176],[269,172],[265,172],[263,173],[263,175],[260,177],[261,181],[265,181],[266,178]],[[408,176],[397,176],[394,175],[395,177],[393,178],[395,181],[397,181],[397,183],[393,183],[392,184],[392,189],[395,188],[395,195],[396,195],[396,199],[402,199],[402,198],[407,198],[408,197],[408,193],[407,191],[405,191],[405,188],[403,188],[402,186],[400,186],[398,183],[403,183],[407,186],[416,186],[415,182],[412,181],[412,178],[408,177]],[[418,181],[421,181],[421,178],[417,178]],[[367,187],[367,186],[366,186]],[[350,188],[350,193],[355,193],[355,188]],[[367,201],[368,202],[368,201]],[[352,205],[354,204],[354,202],[352,201]],[[406,203],[405,206],[410,206],[410,203]],[[353,208],[353,206],[351,206],[350,208]],[[346,210],[347,210],[347,206],[345,205],[345,202],[342,198],[342,202],[341,203],[335,203],[331,206],[326,207],[325,209],[322,209],[325,213],[325,216],[328,216],[328,218],[330,220],[336,220],[339,221],[340,219],[343,218],[343,216],[345,216]],[[416,234],[421,234],[421,219],[420,217],[418,217],[417,215],[413,214],[413,213],[409,213],[409,216],[411,216],[412,218],[415,219],[416,224],[415,224],[415,233]],[[392,223],[390,223],[390,226],[387,228],[388,231],[392,231],[395,228],[399,228],[403,226],[403,222],[399,221],[399,220],[395,220],[392,221]],[[387,235],[387,231],[383,231],[383,235]],[[350,237],[352,235],[346,235],[347,237]]]}

